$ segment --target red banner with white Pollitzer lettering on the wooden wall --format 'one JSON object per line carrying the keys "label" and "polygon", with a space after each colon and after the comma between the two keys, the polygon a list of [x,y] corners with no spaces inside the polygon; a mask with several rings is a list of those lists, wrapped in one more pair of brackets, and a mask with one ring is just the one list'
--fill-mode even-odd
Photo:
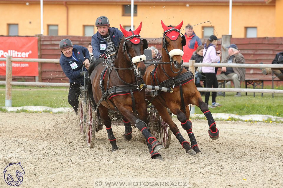
{"label": "red banner with white Pollitzer lettering on the wooden wall", "polygon": [[[0,58],[38,58],[36,37],[0,36]],[[38,76],[37,62],[12,62],[13,76]],[[0,75],[6,75],[6,61],[0,61]]]}

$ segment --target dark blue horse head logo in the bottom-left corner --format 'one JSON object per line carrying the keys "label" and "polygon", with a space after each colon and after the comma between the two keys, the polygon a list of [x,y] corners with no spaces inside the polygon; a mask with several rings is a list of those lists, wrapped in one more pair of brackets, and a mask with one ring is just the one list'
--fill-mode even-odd
{"label": "dark blue horse head logo in the bottom-left corner", "polygon": [[11,186],[19,186],[23,182],[24,169],[21,163],[10,163],[4,169],[5,182]]}

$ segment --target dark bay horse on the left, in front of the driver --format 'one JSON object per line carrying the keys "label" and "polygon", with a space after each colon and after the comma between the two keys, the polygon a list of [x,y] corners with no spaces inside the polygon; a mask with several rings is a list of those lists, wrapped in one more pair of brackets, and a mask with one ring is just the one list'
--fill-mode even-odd
{"label": "dark bay horse on the left, in front of the driver", "polygon": [[[146,70],[144,49],[148,47],[147,41],[140,38],[141,23],[135,31],[126,31],[121,25],[120,29],[124,37],[118,45],[113,61],[101,63],[104,60],[98,59],[98,62],[92,63],[88,70],[90,79],[88,80],[87,98],[96,108],[98,116],[104,121],[112,152],[119,148],[111,129],[108,109],[119,110],[124,116],[125,134],[123,137],[125,140],[131,140],[131,123],[135,124],[146,138],[151,157],[162,160],[157,151],[163,146],[148,130],[145,90],[140,90],[138,85]],[[134,114],[135,109],[140,119]]]}

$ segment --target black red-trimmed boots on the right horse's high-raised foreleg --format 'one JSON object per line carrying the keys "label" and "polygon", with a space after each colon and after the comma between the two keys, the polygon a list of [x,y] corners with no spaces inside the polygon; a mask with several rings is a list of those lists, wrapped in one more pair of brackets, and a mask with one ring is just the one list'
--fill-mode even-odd
{"label": "black red-trimmed boots on the right horse's high-raised foreleg", "polygon": [[209,130],[208,130],[208,134],[209,137],[212,140],[217,140],[219,137],[219,130],[216,128],[216,124],[215,121],[212,117],[212,114],[210,112],[210,110],[208,110],[208,105],[206,103],[204,103],[202,101],[202,103],[200,103],[200,110],[203,112],[203,114],[205,115],[207,121],[208,121],[208,126],[209,126]]}

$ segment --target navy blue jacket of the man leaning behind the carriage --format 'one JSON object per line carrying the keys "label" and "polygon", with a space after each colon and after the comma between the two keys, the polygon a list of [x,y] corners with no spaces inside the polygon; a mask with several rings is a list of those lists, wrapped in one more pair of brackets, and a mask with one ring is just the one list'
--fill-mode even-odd
{"label": "navy blue jacket of the man leaning behind the carriage", "polygon": [[[72,56],[68,58],[62,53],[60,57],[60,65],[65,75],[70,79],[70,83],[83,84],[83,75],[80,75],[80,71],[83,67],[83,61],[85,61],[86,59],[89,60],[89,51],[83,46],[74,45],[73,52],[73,55],[76,56],[78,61],[74,60]],[[71,64],[73,63],[76,63],[78,66],[74,70],[71,67]]]}

